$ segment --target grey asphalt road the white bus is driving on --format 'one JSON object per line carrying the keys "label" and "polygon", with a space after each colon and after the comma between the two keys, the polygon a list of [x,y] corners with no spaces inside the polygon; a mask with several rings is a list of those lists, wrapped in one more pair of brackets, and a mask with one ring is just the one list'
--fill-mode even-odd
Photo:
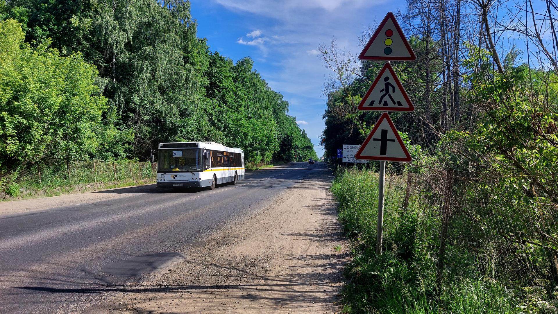
{"label": "grey asphalt road the white bus is driving on", "polygon": [[79,312],[187,258],[206,236],[323,171],[325,163],[289,163],[214,191],[147,185],[97,192],[126,194],[114,199],[80,202],[76,195],[74,205],[9,215],[2,214],[9,202],[0,203],[0,312]]}

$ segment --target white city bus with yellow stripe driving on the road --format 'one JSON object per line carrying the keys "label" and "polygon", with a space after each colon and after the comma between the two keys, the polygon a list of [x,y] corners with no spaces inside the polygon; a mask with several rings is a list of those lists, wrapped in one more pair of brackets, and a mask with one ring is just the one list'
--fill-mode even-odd
{"label": "white city bus with yellow stripe driving on the road", "polygon": [[[153,153],[153,152],[152,152]],[[244,178],[244,152],[214,142],[161,143],[157,187],[209,187]]]}

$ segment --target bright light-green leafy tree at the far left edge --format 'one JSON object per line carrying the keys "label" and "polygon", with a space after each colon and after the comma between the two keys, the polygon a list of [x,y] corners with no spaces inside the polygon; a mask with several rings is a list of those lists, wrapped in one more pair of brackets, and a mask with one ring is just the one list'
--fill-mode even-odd
{"label": "bright light-green leafy tree at the far left edge", "polygon": [[23,41],[21,25],[0,22],[0,164],[88,158],[99,147],[106,99],[97,70],[79,54],[59,56],[48,41]]}

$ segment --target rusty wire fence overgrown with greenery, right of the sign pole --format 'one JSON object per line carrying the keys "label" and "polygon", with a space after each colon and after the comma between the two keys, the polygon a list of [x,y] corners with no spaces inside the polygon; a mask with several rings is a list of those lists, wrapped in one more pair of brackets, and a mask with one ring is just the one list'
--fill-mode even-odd
{"label": "rusty wire fence overgrown with greenery, right of the sign pole", "polygon": [[417,217],[424,249],[435,257],[435,286],[482,277],[558,299],[549,290],[558,283],[558,204],[530,195],[526,177],[453,170],[401,177],[398,214]]}

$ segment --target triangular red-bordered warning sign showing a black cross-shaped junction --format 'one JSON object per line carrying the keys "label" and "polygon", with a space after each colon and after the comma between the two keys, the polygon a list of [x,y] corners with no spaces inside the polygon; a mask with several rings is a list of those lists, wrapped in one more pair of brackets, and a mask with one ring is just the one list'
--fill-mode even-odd
{"label": "triangular red-bordered warning sign showing a black cross-shaped junction", "polygon": [[410,162],[411,155],[387,112],[382,113],[355,159]]}

